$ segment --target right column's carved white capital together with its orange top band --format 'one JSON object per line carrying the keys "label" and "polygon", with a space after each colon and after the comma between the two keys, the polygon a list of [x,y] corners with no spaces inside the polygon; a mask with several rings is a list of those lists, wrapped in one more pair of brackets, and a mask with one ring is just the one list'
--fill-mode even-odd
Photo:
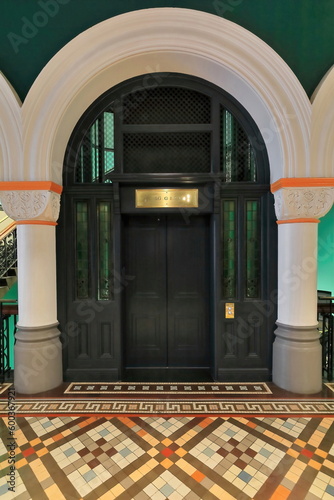
{"label": "right column's carved white capital together with its orange top band", "polygon": [[334,178],[286,178],[271,185],[278,224],[318,223],[334,202]]}

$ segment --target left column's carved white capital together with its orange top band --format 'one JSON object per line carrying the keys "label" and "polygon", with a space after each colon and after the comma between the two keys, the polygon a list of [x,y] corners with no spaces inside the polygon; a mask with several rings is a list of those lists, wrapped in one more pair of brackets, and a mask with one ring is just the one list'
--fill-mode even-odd
{"label": "left column's carved white capital together with its orange top band", "polygon": [[62,186],[51,181],[0,182],[4,211],[17,224],[56,225]]}

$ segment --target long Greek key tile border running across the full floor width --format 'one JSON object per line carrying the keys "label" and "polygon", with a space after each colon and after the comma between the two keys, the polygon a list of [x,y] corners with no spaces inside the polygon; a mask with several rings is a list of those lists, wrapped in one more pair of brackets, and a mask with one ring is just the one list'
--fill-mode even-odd
{"label": "long Greek key tile border running across the full floor width", "polygon": [[[20,399],[16,415],[334,415],[333,399]],[[8,401],[0,400],[0,416],[6,416]]]}

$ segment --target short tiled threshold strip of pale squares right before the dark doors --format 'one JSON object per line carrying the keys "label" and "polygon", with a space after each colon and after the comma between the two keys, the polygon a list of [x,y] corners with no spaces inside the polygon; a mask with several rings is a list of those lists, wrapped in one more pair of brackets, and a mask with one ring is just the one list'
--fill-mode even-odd
{"label": "short tiled threshold strip of pale squares right before the dark doors", "polygon": [[64,394],[272,394],[264,382],[231,382],[228,384],[194,383],[92,383],[72,382]]}

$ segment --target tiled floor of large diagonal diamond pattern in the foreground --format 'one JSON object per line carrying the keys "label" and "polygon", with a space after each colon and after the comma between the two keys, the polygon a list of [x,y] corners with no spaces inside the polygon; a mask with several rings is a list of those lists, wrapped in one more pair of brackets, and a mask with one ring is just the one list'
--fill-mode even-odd
{"label": "tiled floor of large diagonal diamond pattern in the foreground", "polygon": [[332,418],[18,417],[3,500],[333,500]]}

